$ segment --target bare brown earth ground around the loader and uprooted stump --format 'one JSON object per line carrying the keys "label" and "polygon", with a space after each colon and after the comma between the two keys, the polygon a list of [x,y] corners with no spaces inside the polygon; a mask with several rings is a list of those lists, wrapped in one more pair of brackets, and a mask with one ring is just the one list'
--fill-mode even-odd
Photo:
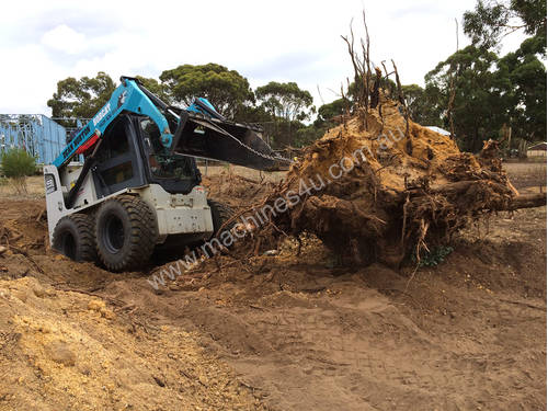
{"label": "bare brown earth ground around the loader and uprooted stump", "polygon": [[[543,167],[507,169],[534,191]],[[276,181],[218,171],[205,184],[237,208]],[[546,207],[492,216],[414,276],[336,266],[305,238],[299,256],[289,240],[221,256],[157,292],[167,265],[112,274],[52,252],[43,203],[0,201],[15,246],[0,258],[0,409],[546,409]]]}

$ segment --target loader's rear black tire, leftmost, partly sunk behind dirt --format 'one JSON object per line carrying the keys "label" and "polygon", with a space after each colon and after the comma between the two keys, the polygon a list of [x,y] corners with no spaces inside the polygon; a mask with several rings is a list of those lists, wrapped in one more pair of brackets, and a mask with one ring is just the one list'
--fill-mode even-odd
{"label": "loader's rear black tire, leftmost, partly sunk behind dirt", "polygon": [[76,213],[57,221],[54,230],[54,250],[75,261],[95,261],[93,217]]}

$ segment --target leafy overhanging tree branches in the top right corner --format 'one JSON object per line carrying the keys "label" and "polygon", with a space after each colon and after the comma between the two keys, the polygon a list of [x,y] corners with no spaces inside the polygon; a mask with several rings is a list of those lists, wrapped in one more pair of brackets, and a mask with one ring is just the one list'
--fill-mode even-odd
{"label": "leafy overhanging tree branches in the top right corner", "polygon": [[473,45],[491,48],[505,35],[524,30],[539,37],[546,54],[546,0],[478,0],[463,20]]}

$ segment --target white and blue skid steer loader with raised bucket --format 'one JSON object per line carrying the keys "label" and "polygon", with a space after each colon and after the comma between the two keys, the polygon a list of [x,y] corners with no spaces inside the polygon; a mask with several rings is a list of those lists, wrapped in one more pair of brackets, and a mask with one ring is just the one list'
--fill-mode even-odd
{"label": "white and blue skid steer loader with raised bucket", "polygon": [[[141,266],[157,248],[209,240],[231,210],[207,198],[195,159],[287,169],[260,133],[225,119],[205,99],[178,109],[122,77],[110,101],[44,167],[52,247],[117,272]],[[79,155],[83,164],[70,161]]]}

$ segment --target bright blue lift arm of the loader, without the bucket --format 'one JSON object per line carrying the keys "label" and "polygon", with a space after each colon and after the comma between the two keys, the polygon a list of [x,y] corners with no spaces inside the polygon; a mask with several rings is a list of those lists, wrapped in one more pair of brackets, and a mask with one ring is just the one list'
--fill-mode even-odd
{"label": "bright blue lift arm of the loader, without the bucket", "polygon": [[[122,83],[114,90],[111,100],[93,116],[80,133],[65,147],[61,153],[54,160],[54,165],[59,168],[67,164],[70,159],[82,148],[85,148],[93,139],[98,139],[106,127],[122,113],[132,112],[149,116],[161,132],[161,144],[169,149],[173,136],[170,132],[168,121],[158,110],[158,106],[145,93],[136,79],[123,77]],[[157,99],[157,103],[162,103]]]}

